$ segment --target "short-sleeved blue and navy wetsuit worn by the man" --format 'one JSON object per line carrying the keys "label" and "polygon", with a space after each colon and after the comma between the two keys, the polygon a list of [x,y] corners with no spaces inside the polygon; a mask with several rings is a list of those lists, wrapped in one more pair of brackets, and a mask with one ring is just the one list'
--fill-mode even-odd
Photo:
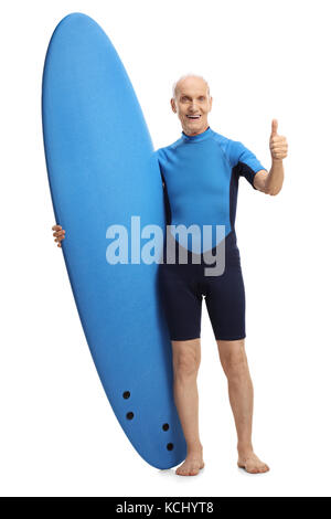
{"label": "short-sleeved blue and navy wetsuit worn by the man", "polygon": [[[173,234],[175,263],[159,266],[160,293],[172,340],[200,337],[202,298],[216,340],[236,340],[245,332],[245,288],[236,244],[235,213],[239,177],[245,177],[254,188],[255,173],[265,170],[252,151],[210,127],[202,134],[188,136],[157,151],[164,186],[168,225],[183,224],[203,233],[203,226],[213,227],[207,244],[201,241],[196,248],[194,232],[186,241]],[[255,189],[255,188],[254,188]],[[223,225],[224,234],[215,232]],[[224,237],[225,236],[225,237]],[[225,245],[225,269],[222,275],[206,276],[204,253]],[[188,264],[179,263],[179,250],[188,251]],[[201,263],[192,261],[201,256]]]}

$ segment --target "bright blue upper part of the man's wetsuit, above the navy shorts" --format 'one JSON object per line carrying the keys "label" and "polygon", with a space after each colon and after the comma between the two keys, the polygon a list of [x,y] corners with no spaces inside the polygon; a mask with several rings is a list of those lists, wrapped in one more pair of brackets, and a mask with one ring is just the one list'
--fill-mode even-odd
{"label": "bright blue upper part of the man's wetsuit, above the navy shorts", "polygon": [[[190,251],[204,252],[229,234],[235,240],[239,177],[245,177],[256,189],[253,184],[255,173],[266,169],[255,155],[242,142],[227,139],[209,127],[194,136],[182,131],[175,142],[158,149],[157,157],[168,198],[167,223],[193,225],[186,242],[175,235],[179,243]],[[203,225],[212,225],[210,245],[201,240],[201,248],[196,248],[194,230],[202,236]],[[225,226],[221,240],[217,240],[215,225]]]}

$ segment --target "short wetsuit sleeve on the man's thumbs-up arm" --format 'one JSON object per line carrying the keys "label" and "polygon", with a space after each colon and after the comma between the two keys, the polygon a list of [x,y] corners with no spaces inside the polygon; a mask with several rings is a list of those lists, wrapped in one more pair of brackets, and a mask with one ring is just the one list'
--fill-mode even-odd
{"label": "short wetsuit sleeve on the man's thumbs-up arm", "polygon": [[238,174],[241,177],[245,177],[252,187],[256,189],[253,183],[254,177],[257,171],[260,171],[261,169],[266,170],[266,168],[249,149],[237,140],[231,141],[228,155],[232,167],[236,168]]}

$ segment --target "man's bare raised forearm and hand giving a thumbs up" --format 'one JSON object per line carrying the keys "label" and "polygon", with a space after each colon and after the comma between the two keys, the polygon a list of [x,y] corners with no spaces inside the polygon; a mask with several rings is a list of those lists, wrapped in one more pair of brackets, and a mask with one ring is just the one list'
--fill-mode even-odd
{"label": "man's bare raised forearm and hand giving a thumbs up", "polygon": [[261,169],[254,177],[254,187],[266,194],[278,194],[284,182],[282,159],[287,157],[288,145],[286,137],[277,134],[278,123],[273,120],[270,136],[270,153],[273,158],[270,171]]}

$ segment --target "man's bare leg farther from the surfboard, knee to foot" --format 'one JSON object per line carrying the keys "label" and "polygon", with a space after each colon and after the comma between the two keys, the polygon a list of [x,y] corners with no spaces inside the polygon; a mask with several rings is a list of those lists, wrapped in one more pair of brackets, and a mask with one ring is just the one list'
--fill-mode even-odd
{"label": "man's bare leg farther from the surfboard, knee to foot", "polygon": [[252,445],[253,383],[245,352],[245,339],[217,340],[218,354],[227,378],[228,396],[238,436],[238,466],[248,473],[269,470]]}

